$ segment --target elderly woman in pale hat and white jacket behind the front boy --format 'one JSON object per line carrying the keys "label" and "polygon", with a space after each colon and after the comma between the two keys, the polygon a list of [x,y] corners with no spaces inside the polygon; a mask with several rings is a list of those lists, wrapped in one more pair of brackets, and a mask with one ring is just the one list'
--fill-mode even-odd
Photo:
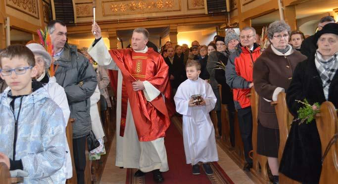
{"label": "elderly woman in pale hat and white jacket behind the front boy", "polygon": [[[48,68],[50,67],[51,56],[46,51],[45,47],[41,44],[29,43],[26,46],[34,53],[35,56],[35,65],[38,67],[36,79],[44,84],[44,88],[48,91],[51,100],[53,100],[61,108],[66,127],[70,115],[68,100],[63,87],[56,83],[56,79],[54,76],[48,75]],[[65,172],[66,179],[69,179],[73,176],[73,168],[68,143],[66,144],[66,162],[63,166],[63,170]]]}

